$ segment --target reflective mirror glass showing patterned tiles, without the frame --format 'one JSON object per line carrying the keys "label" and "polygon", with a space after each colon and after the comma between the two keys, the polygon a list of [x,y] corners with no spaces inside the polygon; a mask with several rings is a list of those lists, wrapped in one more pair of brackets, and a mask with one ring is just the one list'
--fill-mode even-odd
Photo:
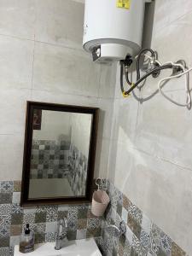
{"label": "reflective mirror glass showing patterned tiles, without the frame", "polygon": [[92,114],[33,109],[29,199],[84,196]]}

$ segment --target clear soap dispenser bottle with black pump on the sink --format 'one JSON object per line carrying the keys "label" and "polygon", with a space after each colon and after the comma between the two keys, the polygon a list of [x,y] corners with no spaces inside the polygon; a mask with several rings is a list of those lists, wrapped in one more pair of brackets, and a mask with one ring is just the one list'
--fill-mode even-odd
{"label": "clear soap dispenser bottle with black pump on the sink", "polygon": [[24,233],[20,236],[20,253],[32,253],[34,251],[34,234],[26,224]]}

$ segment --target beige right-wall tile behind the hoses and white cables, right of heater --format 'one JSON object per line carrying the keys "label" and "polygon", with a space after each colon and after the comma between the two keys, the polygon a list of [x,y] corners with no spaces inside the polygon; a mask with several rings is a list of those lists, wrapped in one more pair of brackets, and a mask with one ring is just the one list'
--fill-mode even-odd
{"label": "beige right-wall tile behind the hoses and white cables, right of heater", "polygon": [[[177,1],[176,1],[177,2]],[[192,58],[189,54],[192,52],[192,15],[184,15],[179,20],[160,29],[158,33],[153,34],[152,49],[156,50],[159,55],[159,60],[162,63],[166,61],[185,60],[188,67],[192,66]],[[154,79],[148,77],[146,84],[143,86],[142,94],[152,94],[158,88],[160,79],[169,77],[172,70],[162,71],[160,77]],[[168,82],[164,90],[184,89],[184,78],[174,79]]]}

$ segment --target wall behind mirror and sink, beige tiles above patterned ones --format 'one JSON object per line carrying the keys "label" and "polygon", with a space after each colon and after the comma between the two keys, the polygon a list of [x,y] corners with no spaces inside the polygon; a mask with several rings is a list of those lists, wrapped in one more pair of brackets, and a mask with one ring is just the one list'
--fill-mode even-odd
{"label": "wall behind mirror and sink, beige tiles above patterned ones", "polygon": [[101,220],[89,207],[22,209],[20,189],[12,181],[21,179],[26,101],[100,108],[95,173],[106,175],[116,67],[95,65],[82,49],[81,1],[0,5],[0,181],[10,181],[0,182],[0,256],[9,255],[26,222],[33,224],[37,241],[54,238],[55,220],[63,215],[71,219],[71,238],[100,236]]}

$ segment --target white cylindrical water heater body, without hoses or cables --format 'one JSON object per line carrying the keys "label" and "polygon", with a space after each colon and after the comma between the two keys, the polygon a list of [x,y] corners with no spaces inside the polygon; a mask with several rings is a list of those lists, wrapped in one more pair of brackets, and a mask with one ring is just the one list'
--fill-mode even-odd
{"label": "white cylindrical water heater body, without hoses or cables", "polygon": [[84,49],[93,61],[136,55],[143,38],[145,0],[85,0]]}

